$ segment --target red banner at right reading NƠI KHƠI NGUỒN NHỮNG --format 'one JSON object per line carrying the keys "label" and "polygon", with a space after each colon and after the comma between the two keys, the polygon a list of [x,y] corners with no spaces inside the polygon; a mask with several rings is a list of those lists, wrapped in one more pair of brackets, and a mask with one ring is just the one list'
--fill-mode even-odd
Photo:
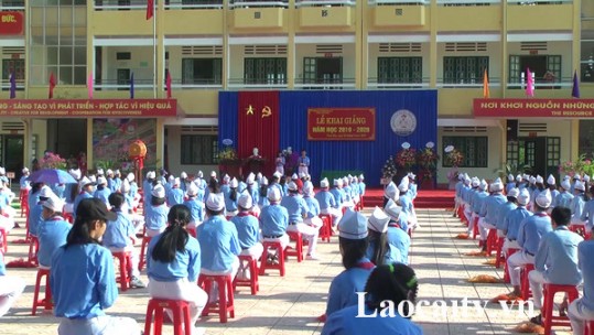
{"label": "red banner at right reading N\u01a0I KH\u01a0I NGU\u1ed2N NH\u1eeeNG", "polygon": [[475,117],[592,118],[594,99],[474,99]]}

